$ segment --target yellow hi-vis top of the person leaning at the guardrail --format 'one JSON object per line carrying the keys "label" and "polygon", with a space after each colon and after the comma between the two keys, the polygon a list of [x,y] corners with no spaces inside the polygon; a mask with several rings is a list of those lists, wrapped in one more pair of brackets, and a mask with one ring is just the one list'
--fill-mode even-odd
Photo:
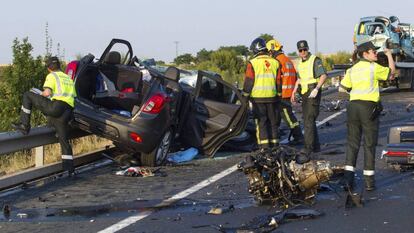
{"label": "yellow hi-vis top of the person leaning at the guardrail", "polygon": [[65,73],[61,71],[51,72],[46,77],[46,81],[43,86],[52,90],[53,95],[51,100],[60,100],[66,102],[72,107],[75,106],[75,85],[73,84],[72,79]]}

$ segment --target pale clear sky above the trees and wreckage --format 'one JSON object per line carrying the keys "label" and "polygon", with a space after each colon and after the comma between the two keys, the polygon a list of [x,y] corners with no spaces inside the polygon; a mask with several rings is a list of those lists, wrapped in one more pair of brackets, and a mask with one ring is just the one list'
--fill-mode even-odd
{"label": "pale clear sky above the trees and wreckage", "polygon": [[[351,51],[354,25],[365,16],[396,15],[414,23],[414,1],[390,0],[3,0],[0,64],[12,62],[13,40],[28,37],[33,55],[46,51],[65,60],[92,53],[100,57],[112,38],[128,40],[139,58],[171,62],[178,54],[205,48],[250,46],[262,33],[273,35],[285,52],[307,40],[324,54]],[[178,41],[178,43],[175,43]],[[177,45],[177,47],[176,47]]]}

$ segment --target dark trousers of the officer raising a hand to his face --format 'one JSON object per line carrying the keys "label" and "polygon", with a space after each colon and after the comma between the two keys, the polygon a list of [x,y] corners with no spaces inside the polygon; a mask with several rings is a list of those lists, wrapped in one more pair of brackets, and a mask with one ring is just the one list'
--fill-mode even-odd
{"label": "dark trousers of the officer raising a hand to his face", "polygon": [[374,102],[353,100],[347,107],[348,145],[345,165],[355,167],[361,135],[364,135],[364,170],[375,170],[375,147],[378,141],[379,117],[370,119]]}

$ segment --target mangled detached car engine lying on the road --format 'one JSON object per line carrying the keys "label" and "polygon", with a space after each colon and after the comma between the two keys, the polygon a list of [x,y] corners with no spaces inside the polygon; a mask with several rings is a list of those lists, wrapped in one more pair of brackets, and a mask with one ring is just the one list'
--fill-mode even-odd
{"label": "mangled detached car engine lying on the road", "polygon": [[[267,153],[246,157],[239,164],[249,181],[249,192],[260,204],[280,207],[311,203],[322,182],[328,181],[333,170],[328,161],[297,163],[299,151],[280,146]],[[300,160],[300,159],[299,159]]]}

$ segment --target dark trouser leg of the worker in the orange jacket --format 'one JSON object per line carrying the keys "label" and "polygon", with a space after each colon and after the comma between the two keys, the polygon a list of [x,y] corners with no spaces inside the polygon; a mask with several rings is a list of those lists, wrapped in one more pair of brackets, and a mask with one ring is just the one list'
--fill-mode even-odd
{"label": "dark trouser leg of the worker in the orange jacket", "polygon": [[293,114],[292,104],[290,103],[290,99],[281,99],[280,115],[281,117],[278,117],[278,126],[280,125],[280,121],[283,118],[283,120],[286,122],[286,124],[290,128],[293,138],[295,140],[303,139],[302,130],[300,128],[298,119]]}

